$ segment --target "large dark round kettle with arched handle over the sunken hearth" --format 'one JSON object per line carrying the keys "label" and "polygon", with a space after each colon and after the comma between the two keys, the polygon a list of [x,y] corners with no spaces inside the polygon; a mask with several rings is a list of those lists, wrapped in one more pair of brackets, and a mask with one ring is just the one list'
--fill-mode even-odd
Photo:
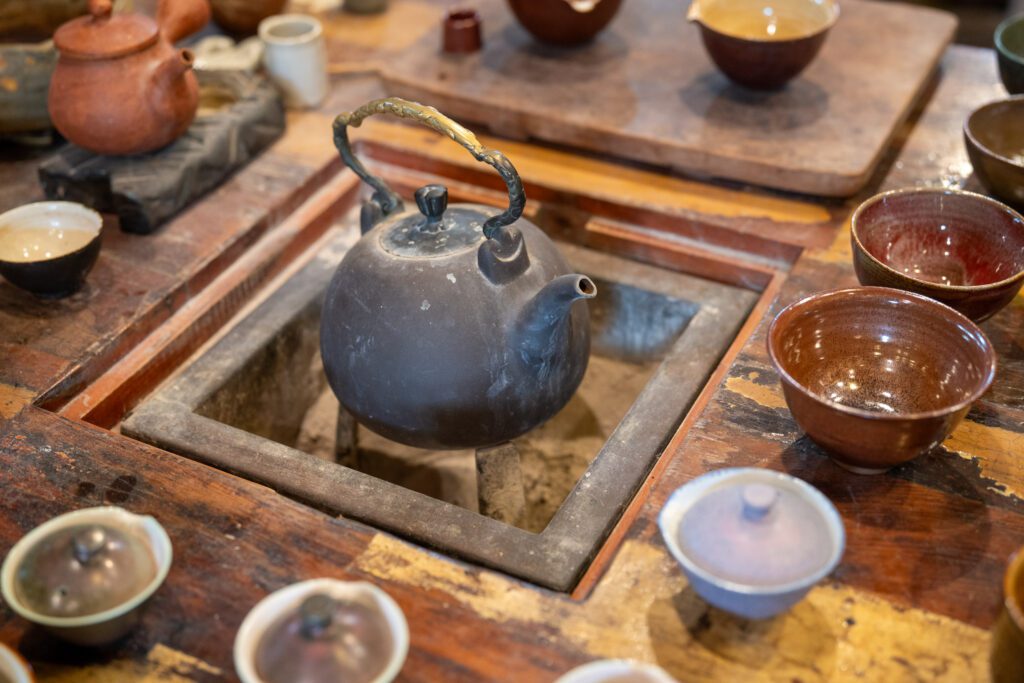
{"label": "large dark round kettle with arched handle over the sunken hearth", "polygon": [[[349,145],[348,126],[374,114],[425,124],[495,167],[509,207],[449,207],[447,189],[427,185],[416,191],[419,211],[407,211]],[[526,199],[509,160],[437,110],[397,97],[339,116],[334,137],[375,190],[324,302],[321,351],[341,404],[375,432],[427,449],[494,445],[552,417],[587,369],[587,306],[575,302],[597,288],[520,218]]]}

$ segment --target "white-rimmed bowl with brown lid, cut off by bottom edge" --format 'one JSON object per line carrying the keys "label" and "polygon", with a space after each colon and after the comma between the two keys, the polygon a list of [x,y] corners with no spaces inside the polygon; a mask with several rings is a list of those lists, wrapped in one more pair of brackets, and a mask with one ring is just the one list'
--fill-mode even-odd
{"label": "white-rimmed bowl with brown lid, cut off by bottom edge", "polygon": [[409,652],[398,605],[373,584],[313,579],[263,598],[234,638],[242,683],[387,683]]}

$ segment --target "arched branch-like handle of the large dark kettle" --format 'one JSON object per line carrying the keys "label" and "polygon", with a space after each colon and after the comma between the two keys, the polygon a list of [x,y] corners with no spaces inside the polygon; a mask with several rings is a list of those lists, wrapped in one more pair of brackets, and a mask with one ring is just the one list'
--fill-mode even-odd
{"label": "arched branch-like handle of the large dark kettle", "polygon": [[370,184],[374,190],[374,197],[384,210],[384,215],[388,215],[401,207],[401,200],[395,193],[387,186],[383,179],[371,174],[352,152],[348,141],[348,127],[357,128],[362,120],[374,114],[391,114],[400,119],[413,119],[425,126],[433,128],[438,133],[443,133],[453,140],[469,150],[469,153],[477,161],[489,164],[505,180],[509,190],[509,208],[492,216],[483,223],[483,234],[488,240],[501,239],[501,228],[514,223],[522,215],[522,210],[526,206],[526,196],[522,189],[522,180],[516,172],[512,162],[505,158],[497,150],[487,150],[476,139],[471,131],[447,118],[432,106],[424,106],[418,102],[401,99],[400,97],[385,97],[368,102],[348,114],[342,114],[334,120],[334,144],[341,153],[341,158],[356,175]]}

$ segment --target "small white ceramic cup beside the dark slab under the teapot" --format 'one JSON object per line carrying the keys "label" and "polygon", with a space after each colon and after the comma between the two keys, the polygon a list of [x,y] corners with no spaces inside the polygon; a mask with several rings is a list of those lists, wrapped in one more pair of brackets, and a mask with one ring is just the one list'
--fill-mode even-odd
{"label": "small white ceramic cup beside the dark slab under the teapot", "polygon": [[259,25],[263,66],[296,109],[319,106],[327,97],[327,45],[324,27],[308,14],[276,14]]}

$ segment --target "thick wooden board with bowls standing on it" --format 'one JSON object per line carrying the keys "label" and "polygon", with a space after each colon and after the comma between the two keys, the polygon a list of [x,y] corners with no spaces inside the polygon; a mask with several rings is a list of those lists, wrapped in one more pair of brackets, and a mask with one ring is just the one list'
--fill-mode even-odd
{"label": "thick wooden board with bowls standing on it", "polygon": [[804,74],[776,92],[731,84],[683,0],[627,0],[583,48],[537,43],[504,2],[479,3],[484,47],[440,51],[440,27],[383,65],[392,94],[494,132],[703,176],[828,197],[864,186],[924,91],[956,19],[840,0]]}

